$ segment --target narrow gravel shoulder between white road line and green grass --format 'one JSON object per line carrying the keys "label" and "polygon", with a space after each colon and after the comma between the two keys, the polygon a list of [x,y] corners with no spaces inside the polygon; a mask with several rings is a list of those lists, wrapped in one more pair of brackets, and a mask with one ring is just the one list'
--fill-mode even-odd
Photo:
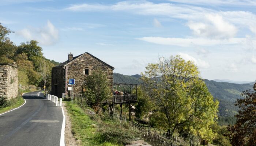
{"label": "narrow gravel shoulder between white road line and green grass", "polygon": [[74,138],[72,134],[72,129],[71,129],[71,121],[68,116],[67,109],[65,107],[65,103],[62,103],[63,110],[66,116],[66,123],[65,123],[65,146],[78,146],[76,143],[76,139]]}

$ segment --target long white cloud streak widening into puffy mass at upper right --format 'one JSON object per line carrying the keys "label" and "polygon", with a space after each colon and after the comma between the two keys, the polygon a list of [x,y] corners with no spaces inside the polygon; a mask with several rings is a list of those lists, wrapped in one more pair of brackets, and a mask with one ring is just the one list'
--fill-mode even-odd
{"label": "long white cloud streak widening into puffy mass at upper right", "polygon": [[[188,2],[188,0],[184,1]],[[201,0],[197,0],[197,2],[198,1]],[[225,3],[230,4],[233,2],[240,5],[240,1],[238,0],[227,0]],[[248,5],[256,5],[256,2],[251,0],[243,0],[241,4],[246,4],[247,2]],[[208,3],[208,1],[204,1],[204,3]],[[221,0],[214,0],[212,3],[221,3]],[[71,5],[64,10],[80,12],[123,11],[139,15],[166,16],[174,19],[184,19],[189,22],[188,26],[191,30],[201,37],[234,37],[237,32],[237,27],[246,27],[256,33],[256,15],[248,11],[216,11],[214,9],[194,5],[152,3],[148,1],[121,1],[112,5],[84,3]]]}

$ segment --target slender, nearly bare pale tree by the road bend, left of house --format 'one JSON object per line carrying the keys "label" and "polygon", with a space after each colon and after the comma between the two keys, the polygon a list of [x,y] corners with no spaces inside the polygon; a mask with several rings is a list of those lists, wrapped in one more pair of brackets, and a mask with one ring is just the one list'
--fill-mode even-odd
{"label": "slender, nearly bare pale tree by the road bend, left of house", "polygon": [[[50,80],[50,70],[49,70],[49,65],[46,63],[45,60],[41,60],[39,64],[39,74],[44,82],[44,87],[46,83]],[[44,88],[45,91],[45,88]]]}

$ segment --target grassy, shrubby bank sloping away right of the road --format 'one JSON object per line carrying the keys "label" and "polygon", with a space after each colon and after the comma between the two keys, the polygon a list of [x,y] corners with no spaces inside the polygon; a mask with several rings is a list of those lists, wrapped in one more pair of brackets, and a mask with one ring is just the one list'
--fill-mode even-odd
{"label": "grassy, shrubby bank sloping away right of the road", "polygon": [[[138,131],[108,115],[90,115],[78,104],[64,101],[72,123],[72,134],[81,146],[123,146],[138,138]],[[91,108],[89,108],[91,109]],[[91,109],[93,110],[93,109]]]}

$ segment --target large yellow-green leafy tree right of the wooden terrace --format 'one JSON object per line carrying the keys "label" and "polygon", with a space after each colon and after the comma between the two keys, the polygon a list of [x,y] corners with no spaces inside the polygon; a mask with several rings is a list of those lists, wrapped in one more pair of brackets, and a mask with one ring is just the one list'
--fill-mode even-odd
{"label": "large yellow-green leafy tree right of the wooden terrace", "polygon": [[155,104],[151,119],[157,127],[170,135],[182,129],[201,138],[215,137],[210,125],[217,118],[218,101],[213,101],[193,62],[180,56],[162,57],[146,66],[141,79],[143,91]]}

